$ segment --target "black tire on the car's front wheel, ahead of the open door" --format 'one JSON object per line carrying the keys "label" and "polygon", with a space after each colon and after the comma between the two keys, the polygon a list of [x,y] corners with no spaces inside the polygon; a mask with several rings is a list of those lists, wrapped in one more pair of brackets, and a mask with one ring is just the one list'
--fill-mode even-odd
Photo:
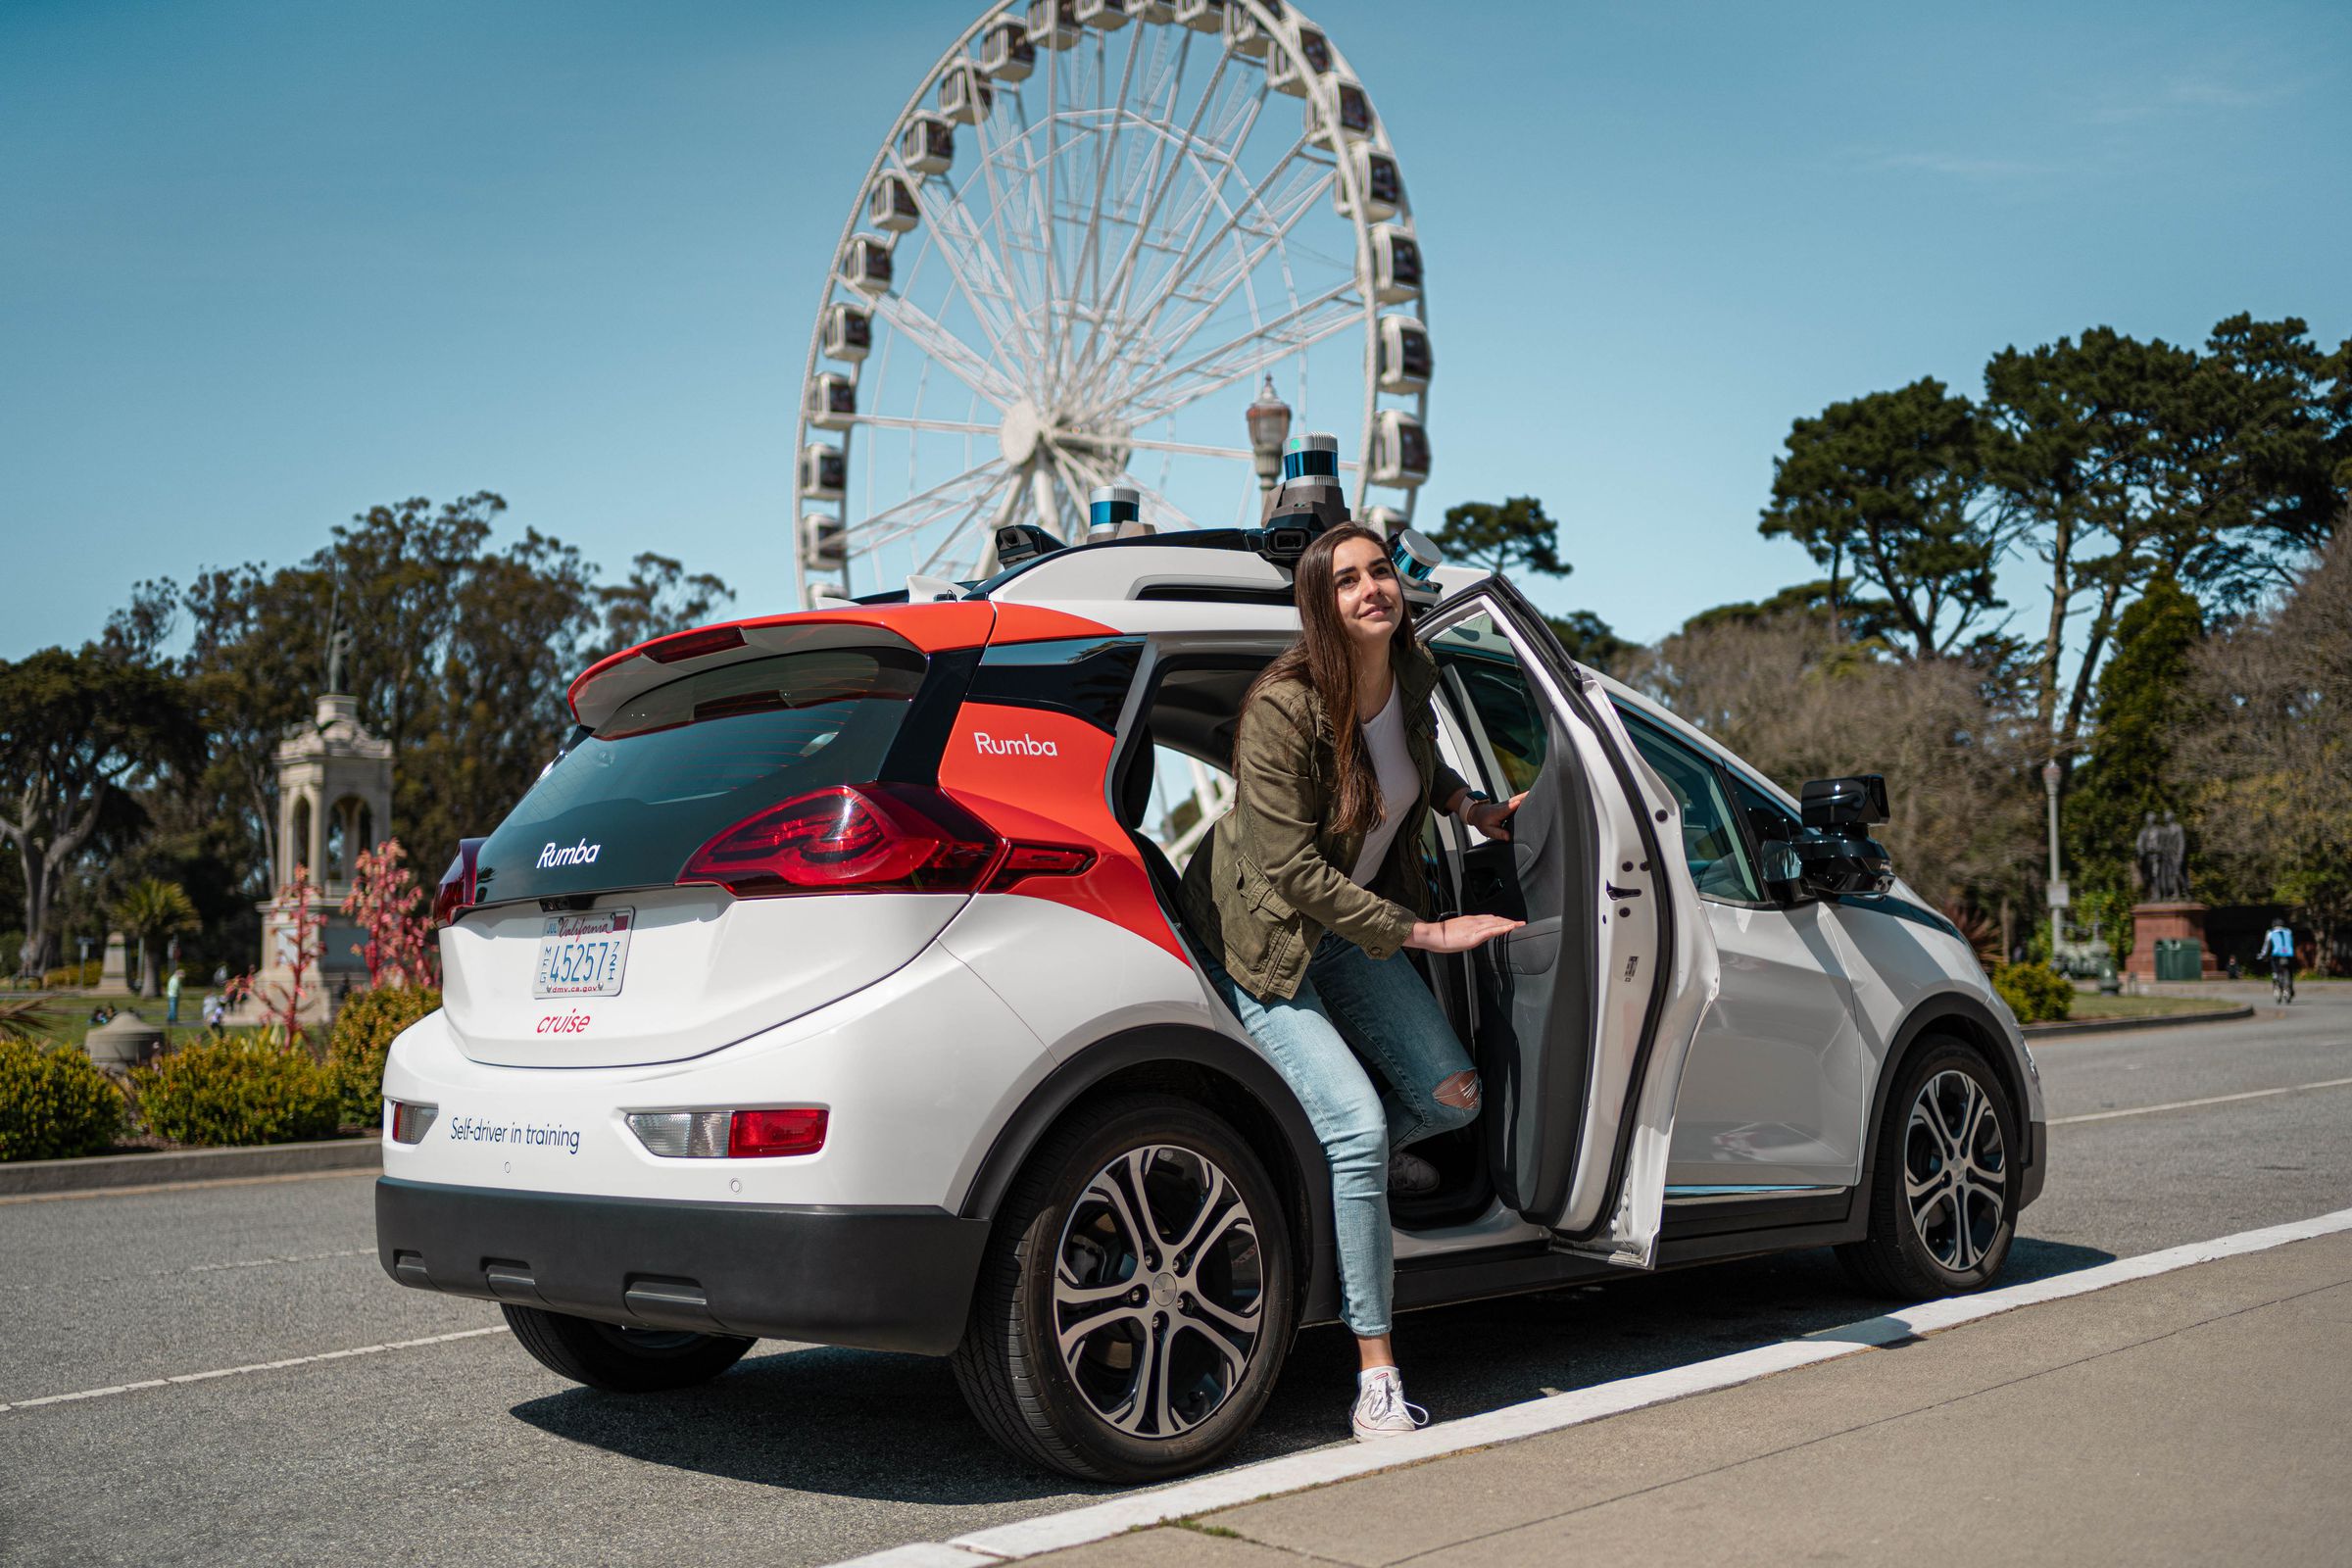
{"label": "black tire on the car's front wheel, ahead of the open door", "polygon": [[[1962,1084],[1983,1095],[1994,1138],[1987,1140],[1983,1119],[1976,1121],[1971,1159],[1955,1168],[1945,1150],[1957,1143],[1955,1124],[1969,1105]],[[1929,1086],[1936,1086],[1929,1114],[1940,1119],[1940,1138],[1933,1126],[1912,1121]],[[1959,1128],[1959,1138],[1969,1138],[1969,1128]],[[2002,1272],[2016,1239],[2023,1190],[2018,1147],[2018,1110],[1983,1053],[1947,1034],[1924,1037],[1905,1058],[1877,1128],[1870,1237],[1839,1246],[1839,1262],[1872,1295],[1931,1300],[1983,1291]],[[1987,1182],[1987,1175],[1994,1180]]]}

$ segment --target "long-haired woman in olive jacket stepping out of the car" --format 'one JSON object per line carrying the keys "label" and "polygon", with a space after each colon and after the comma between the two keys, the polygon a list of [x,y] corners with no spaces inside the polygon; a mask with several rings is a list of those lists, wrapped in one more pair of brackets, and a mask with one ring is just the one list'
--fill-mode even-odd
{"label": "long-haired woman in olive jacket stepping out of the car", "polygon": [[1211,985],[1331,1161],[1341,1319],[1362,1361],[1350,1425],[1378,1439],[1428,1420],[1404,1401],[1390,1345],[1388,1192],[1432,1190],[1437,1171],[1404,1145],[1479,1110],[1470,1056],[1399,950],[1468,952],[1519,924],[1428,919],[1423,813],[1508,839],[1519,797],[1494,802],[1437,759],[1437,665],[1378,534],[1317,536],[1294,590],[1301,637],[1242,701],[1235,806],[1185,867],[1183,903]]}

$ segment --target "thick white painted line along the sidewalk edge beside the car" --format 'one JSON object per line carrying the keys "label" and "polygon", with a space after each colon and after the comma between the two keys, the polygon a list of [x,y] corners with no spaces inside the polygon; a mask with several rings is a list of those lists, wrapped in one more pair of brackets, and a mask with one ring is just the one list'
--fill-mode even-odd
{"label": "thick white painted line along the sidewalk edge beside the car", "polygon": [[1999,1291],[1983,1291],[1978,1295],[1950,1295],[1945,1300],[1905,1307],[1903,1312],[1889,1312],[1886,1316],[1863,1319],[1860,1324],[1823,1328],[1820,1333],[1809,1333],[1799,1340],[1783,1340],[1780,1345],[1762,1345],[1757,1349],[1743,1349],[1712,1361],[1672,1366],[1642,1378],[1621,1378],[1618,1382],[1602,1382],[1571,1394],[1531,1399],[1501,1410],[1486,1410],[1484,1415],[1437,1422],[1411,1436],[1385,1439],[1381,1443],[1315,1448],[1310,1453],[1294,1453],[1279,1460],[1261,1460],[1258,1465],[1240,1465],[1235,1469],[1197,1476],[1192,1481],[1178,1481],[1176,1486],[1164,1486],[1150,1493],[1112,1497],[1110,1502],[1096,1502],[1065,1514],[1023,1519],[993,1530],[957,1535],[946,1542],[915,1542],[908,1547],[891,1547],[889,1552],[873,1552],[844,1563],[833,1563],[833,1568],[981,1568],[985,1563],[1037,1556],[1040,1552],[1082,1547],[1087,1542],[1124,1535],[1127,1530],[1145,1530],[1171,1519],[1190,1519],[1237,1507],[1242,1502],[1256,1502],[1258,1497],[1305,1490],[1310,1486],[1329,1486],[1334,1481],[1348,1481],[1352,1476],[1367,1476],[1399,1465],[1421,1465],[1449,1453],[1463,1453],[1465,1448],[1508,1443],[1541,1432],[1559,1432],[1562,1427],[1576,1427],[1604,1415],[1618,1415],[1623,1410],[1639,1410],[1670,1399],[1686,1399],[1691,1394],[1710,1394],[1740,1382],[1755,1382],[1757,1378],[1785,1373],[1797,1366],[1853,1356],[1865,1349],[1910,1340],[1912,1335],[1936,1333],[1940,1328],[1955,1328],[1976,1319],[2013,1312],[2016,1307],[2063,1300],[2067,1295],[2089,1295],[2091,1291],[2105,1291],[2107,1286],[2119,1286],[2133,1279],[2150,1279],[2154,1274],[2169,1274],[2199,1262],[2239,1258],[2244,1253],[2286,1246],[2288,1241],[2310,1241],[2312,1237],[2328,1237],[2345,1229],[2352,1229],[2352,1208],[2324,1213],[2312,1220],[2296,1220],[2293,1225],[2249,1229],[2216,1241],[2192,1241],[2187,1246],[2173,1246],[2140,1258],[2119,1258],[2117,1262],[2103,1262],[2091,1269],[2077,1269],[2053,1279],[2034,1279],[2030,1284],[2006,1286]]}

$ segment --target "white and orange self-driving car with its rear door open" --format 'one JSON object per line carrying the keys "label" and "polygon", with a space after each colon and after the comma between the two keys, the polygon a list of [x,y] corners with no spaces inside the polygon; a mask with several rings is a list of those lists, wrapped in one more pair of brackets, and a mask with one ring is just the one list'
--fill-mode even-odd
{"label": "white and orange self-driving car with its rear door open", "polygon": [[[602,1389],[757,1338],[922,1352],[1040,1465],[1223,1455],[1336,1319],[1329,1168],[1188,954],[1148,832],[1185,823],[1148,816],[1225,769],[1298,632],[1287,559],[1117,538],[581,675],[442,889],[447,1006],[383,1074],[386,1272]],[[1870,842],[1884,785],[1790,799],[1510,583],[1437,581],[1446,757],[1526,802],[1508,844],[1430,823],[1430,907],[1526,924],[1414,954],[1486,1107],[1418,1145],[1444,1182],[1395,1204],[1397,1305],[1809,1246],[1983,1286],[2042,1093]]]}

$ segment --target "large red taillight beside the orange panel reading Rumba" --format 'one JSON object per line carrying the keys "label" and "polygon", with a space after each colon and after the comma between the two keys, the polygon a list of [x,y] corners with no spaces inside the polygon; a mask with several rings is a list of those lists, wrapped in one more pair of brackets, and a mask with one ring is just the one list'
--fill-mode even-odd
{"label": "large red taillight beside the orange panel reading Rumba", "polygon": [[833,785],[746,818],[694,851],[680,882],[767,893],[969,893],[1004,842],[938,790]]}

